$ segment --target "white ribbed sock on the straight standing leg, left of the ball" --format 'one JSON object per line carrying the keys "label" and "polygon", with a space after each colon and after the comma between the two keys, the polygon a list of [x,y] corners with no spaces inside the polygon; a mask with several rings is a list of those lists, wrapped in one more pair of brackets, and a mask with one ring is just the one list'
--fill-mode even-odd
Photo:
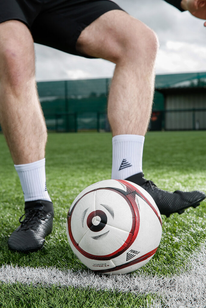
{"label": "white ribbed sock on the straight standing leg, left of the ball", "polygon": [[45,158],[31,164],[14,165],[19,175],[24,201],[51,201],[46,185]]}

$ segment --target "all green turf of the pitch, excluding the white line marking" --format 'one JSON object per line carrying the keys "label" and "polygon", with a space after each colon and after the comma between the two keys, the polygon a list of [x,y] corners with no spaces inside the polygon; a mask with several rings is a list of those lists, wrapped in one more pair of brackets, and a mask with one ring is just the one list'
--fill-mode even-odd
{"label": "all green turf of the pitch, excluding the white line marking", "polygon": [[[153,180],[158,187],[169,191],[176,189],[205,191],[205,136],[206,132],[203,131],[149,132],[145,138],[143,155],[145,177]],[[9,234],[19,225],[18,218],[23,214],[24,201],[18,175],[2,135],[0,135],[0,147],[0,264],[32,267],[55,265],[59,269],[67,268],[74,271],[86,269],[69,247],[65,219],[78,193],[94,182],[111,177],[111,134],[49,134],[46,174],[48,192],[55,208],[54,228],[53,233],[47,237],[44,249],[28,255],[11,252],[7,247]],[[130,275],[147,273],[164,276],[183,271],[188,256],[205,241],[205,210],[204,201],[197,209],[187,209],[182,215],[174,214],[169,218],[163,216],[163,234],[157,253],[147,265]],[[147,295],[147,298],[146,295],[133,297],[132,294],[123,296],[109,293],[112,301],[108,302],[109,298],[107,298],[104,306],[103,299],[107,297],[107,292],[98,293],[95,290],[67,288],[66,291],[60,289],[55,293],[55,288],[44,289],[40,286],[35,290],[31,289],[32,291],[29,288],[31,287],[2,285],[1,292],[4,292],[8,300],[15,296],[18,298],[18,294],[33,292],[31,294],[36,298],[34,303],[37,307],[53,307],[55,300],[58,300],[58,294],[61,294],[62,301],[67,294],[66,298],[71,305],[68,306],[67,303],[67,307],[82,307],[81,300],[84,292],[87,298],[85,307],[93,307],[92,300],[89,300],[92,296],[99,298],[99,305],[101,304],[102,307],[127,307],[124,296],[134,307],[140,304],[144,306],[146,299],[151,300],[150,295]],[[38,292],[42,297],[36,295],[39,294]],[[51,295],[52,292],[53,295]],[[72,294],[75,296],[72,297]],[[46,302],[44,305],[40,302],[41,298]],[[11,303],[10,306],[5,307],[29,307],[26,306],[27,303],[24,306],[20,305],[20,302],[16,306],[12,305]],[[63,302],[61,306],[64,307]]]}

